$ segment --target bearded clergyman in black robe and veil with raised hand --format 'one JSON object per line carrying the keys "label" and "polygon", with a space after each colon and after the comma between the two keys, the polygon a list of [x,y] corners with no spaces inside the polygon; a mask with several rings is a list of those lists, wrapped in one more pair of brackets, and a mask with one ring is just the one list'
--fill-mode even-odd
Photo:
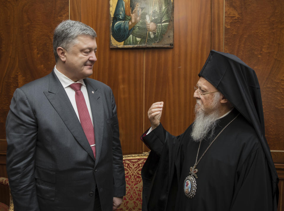
{"label": "bearded clergyman in black robe and veil with raised hand", "polygon": [[[199,76],[195,122],[184,133],[172,136],[160,124],[163,102],[148,111],[142,210],[276,211],[278,177],[255,72],[238,57],[212,50]],[[201,133],[199,112],[213,119],[209,129],[204,119]]]}

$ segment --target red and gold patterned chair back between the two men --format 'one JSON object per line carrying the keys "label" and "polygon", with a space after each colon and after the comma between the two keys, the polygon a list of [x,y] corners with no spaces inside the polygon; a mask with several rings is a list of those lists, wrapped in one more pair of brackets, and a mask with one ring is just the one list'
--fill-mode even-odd
{"label": "red and gold patterned chair back between the two men", "polygon": [[125,169],[126,196],[118,211],[142,210],[142,179],[141,169],[149,153],[130,154],[123,156],[123,165]]}

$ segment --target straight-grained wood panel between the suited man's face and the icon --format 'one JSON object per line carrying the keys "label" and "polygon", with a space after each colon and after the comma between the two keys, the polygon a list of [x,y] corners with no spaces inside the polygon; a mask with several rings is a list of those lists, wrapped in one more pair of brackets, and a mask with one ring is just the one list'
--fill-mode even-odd
{"label": "straight-grained wood panel between the suited man's face and the icon", "polygon": [[81,21],[97,32],[97,62],[90,78],[113,90],[123,154],[143,152],[144,49],[110,49],[109,1],[82,1]]}

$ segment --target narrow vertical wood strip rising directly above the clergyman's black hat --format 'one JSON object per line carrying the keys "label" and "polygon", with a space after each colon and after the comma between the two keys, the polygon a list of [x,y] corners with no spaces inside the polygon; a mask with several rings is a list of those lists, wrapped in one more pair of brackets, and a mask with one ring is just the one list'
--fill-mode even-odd
{"label": "narrow vertical wood strip rising directly above the clergyman's black hat", "polygon": [[211,49],[224,52],[225,0],[212,0]]}

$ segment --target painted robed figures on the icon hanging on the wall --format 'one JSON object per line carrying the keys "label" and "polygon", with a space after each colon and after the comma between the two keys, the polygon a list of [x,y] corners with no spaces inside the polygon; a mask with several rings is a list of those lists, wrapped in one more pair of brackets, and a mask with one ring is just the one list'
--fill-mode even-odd
{"label": "painted robed figures on the icon hanging on the wall", "polygon": [[118,0],[112,36],[123,45],[151,45],[162,40],[171,18],[171,0]]}

